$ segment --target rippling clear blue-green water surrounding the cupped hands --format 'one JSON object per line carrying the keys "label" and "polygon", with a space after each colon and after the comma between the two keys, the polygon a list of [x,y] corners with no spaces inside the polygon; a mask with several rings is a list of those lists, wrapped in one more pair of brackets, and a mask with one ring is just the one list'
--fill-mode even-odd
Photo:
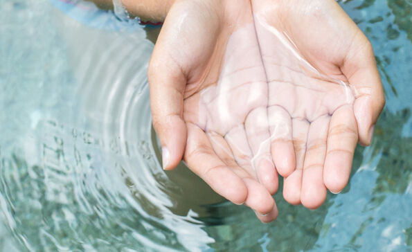
{"label": "rippling clear blue-green water surrounding the cupped hands", "polygon": [[382,74],[375,139],[340,195],[307,210],[278,192],[260,224],[183,165],[161,170],[143,28],[84,3],[0,1],[0,250],[411,251],[412,1],[339,3]]}

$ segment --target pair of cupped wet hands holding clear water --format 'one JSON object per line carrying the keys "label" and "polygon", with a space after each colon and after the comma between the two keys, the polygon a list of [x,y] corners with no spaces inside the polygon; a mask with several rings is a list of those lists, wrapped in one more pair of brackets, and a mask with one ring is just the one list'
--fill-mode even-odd
{"label": "pair of cupped wet hands holding clear water", "polygon": [[186,164],[262,222],[348,182],[384,107],[373,49],[334,0],[177,0],[148,71],[163,168]]}

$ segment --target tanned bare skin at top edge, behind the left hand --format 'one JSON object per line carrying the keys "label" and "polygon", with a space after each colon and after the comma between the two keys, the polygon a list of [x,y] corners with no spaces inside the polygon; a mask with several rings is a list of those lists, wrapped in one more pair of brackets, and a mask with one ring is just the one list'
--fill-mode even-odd
{"label": "tanned bare skin at top edge, behind the left hand", "polygon": [[[112,0],[93,1],[99,8],[113,8]],[[147,21],[164,21],[175,0],[120,0],[130,15]]]}

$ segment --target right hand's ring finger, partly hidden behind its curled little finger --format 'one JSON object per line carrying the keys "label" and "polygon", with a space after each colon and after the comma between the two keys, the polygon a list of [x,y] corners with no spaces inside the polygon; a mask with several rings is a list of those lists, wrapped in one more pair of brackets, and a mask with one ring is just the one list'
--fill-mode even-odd
{"label": "right hand's ring finger, partly hidden behind its curled little finger", "polygon": [[292,120],[293,143],[296,156],[296,170],[284,180],[283,197],[290,204],[301,204],[302,169],[305,159],[309,122],[294,118]]}

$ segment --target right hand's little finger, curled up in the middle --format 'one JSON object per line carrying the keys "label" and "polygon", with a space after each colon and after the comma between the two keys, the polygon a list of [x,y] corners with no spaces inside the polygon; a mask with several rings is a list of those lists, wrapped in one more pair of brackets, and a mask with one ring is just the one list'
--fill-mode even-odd
{"label": "right hand's little finger, curled up in the middle", "polygon": [[268,108],[269,128],[271,134],[271,155],[276,170],[283,177],[295,170],[296,157],[292,142],[292,121],[283,107]]}

